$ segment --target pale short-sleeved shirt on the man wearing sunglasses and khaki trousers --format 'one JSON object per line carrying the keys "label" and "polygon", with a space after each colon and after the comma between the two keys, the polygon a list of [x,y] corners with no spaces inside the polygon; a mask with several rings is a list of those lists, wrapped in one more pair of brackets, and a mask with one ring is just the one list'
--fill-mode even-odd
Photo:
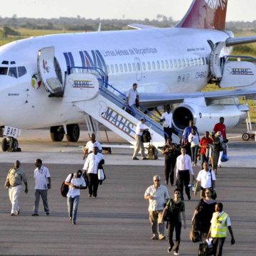
{"label": "pale short-sleeved shirt on the man wearing sunglasses and khaki trousers", "polygon": [[146,188],[144,196],[154,196],[149,199],[149,210],[163,210],[166,199],[170,198],[166,186],[160,185],[156,188],[154,185]]}

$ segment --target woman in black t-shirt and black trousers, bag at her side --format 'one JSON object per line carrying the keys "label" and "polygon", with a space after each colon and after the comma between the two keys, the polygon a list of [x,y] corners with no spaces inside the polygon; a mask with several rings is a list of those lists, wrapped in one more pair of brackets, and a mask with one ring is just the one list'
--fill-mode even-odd
{"label": "woman in black t-shirt and black trousers, bag at her side", "polygon": [[[185,203],[181,201],[181,191],[179,188],[174,190],[174,199],[169,199],[166,208],[164,208],[163,216],[167,210],[169,210],[168,233],[170,244],[167,252],[170,253],[174,247],[174,255],[179,255],[178,249],[181,243],[181,214],[183,218],[183,228],[186,228]],[[174,229],[176,233],[175,245],[173,241]]]}

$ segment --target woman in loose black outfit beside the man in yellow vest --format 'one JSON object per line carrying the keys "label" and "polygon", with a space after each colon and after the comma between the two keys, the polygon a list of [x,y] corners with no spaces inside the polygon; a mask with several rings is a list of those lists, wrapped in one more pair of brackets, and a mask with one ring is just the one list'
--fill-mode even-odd
{"label": "woman in loose black outfit beside the man in yellow vest", "polygon": [[206,236],[210,229],[210,220],[215,212],[216,201],[211,198],[212,192],[210,188],[206,188],[205,198],[201,198],[194,211],[192,224],[196,230],[200,231],[202,242],[206,241]]}

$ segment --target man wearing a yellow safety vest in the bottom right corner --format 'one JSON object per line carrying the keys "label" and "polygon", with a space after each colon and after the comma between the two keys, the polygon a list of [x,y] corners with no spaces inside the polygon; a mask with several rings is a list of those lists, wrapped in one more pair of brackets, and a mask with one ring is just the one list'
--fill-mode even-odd
{"label": "man wearing a yellow safety vest in the bottom right corner", "polygon": [[215,256],[222,256],[223,245],[228,231],[231,235],[231,245],[234,245],[235,238],[231,228],[230,218],[223,211],[223,203],[216,203],[215,213],[213,213],[213,218],[210,220],[210,230],[207,235],[207,239],[210,236],[213,238],[213,253]]}

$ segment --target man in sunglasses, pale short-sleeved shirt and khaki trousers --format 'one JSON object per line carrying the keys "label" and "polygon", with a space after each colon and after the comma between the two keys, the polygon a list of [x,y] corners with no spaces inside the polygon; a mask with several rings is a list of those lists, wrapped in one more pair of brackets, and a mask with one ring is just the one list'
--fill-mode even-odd
{"label": "man in sunglasses, pale short-sleeved shirt and khaki trousers", "polygon": [[149,200],[149,221],[151,223],[153,240],[164,240],[164,220],[162,214],[169,193],[166,186],[160,184],[160,176],[153,177],[153,185],[146,188],[144,199]]}

